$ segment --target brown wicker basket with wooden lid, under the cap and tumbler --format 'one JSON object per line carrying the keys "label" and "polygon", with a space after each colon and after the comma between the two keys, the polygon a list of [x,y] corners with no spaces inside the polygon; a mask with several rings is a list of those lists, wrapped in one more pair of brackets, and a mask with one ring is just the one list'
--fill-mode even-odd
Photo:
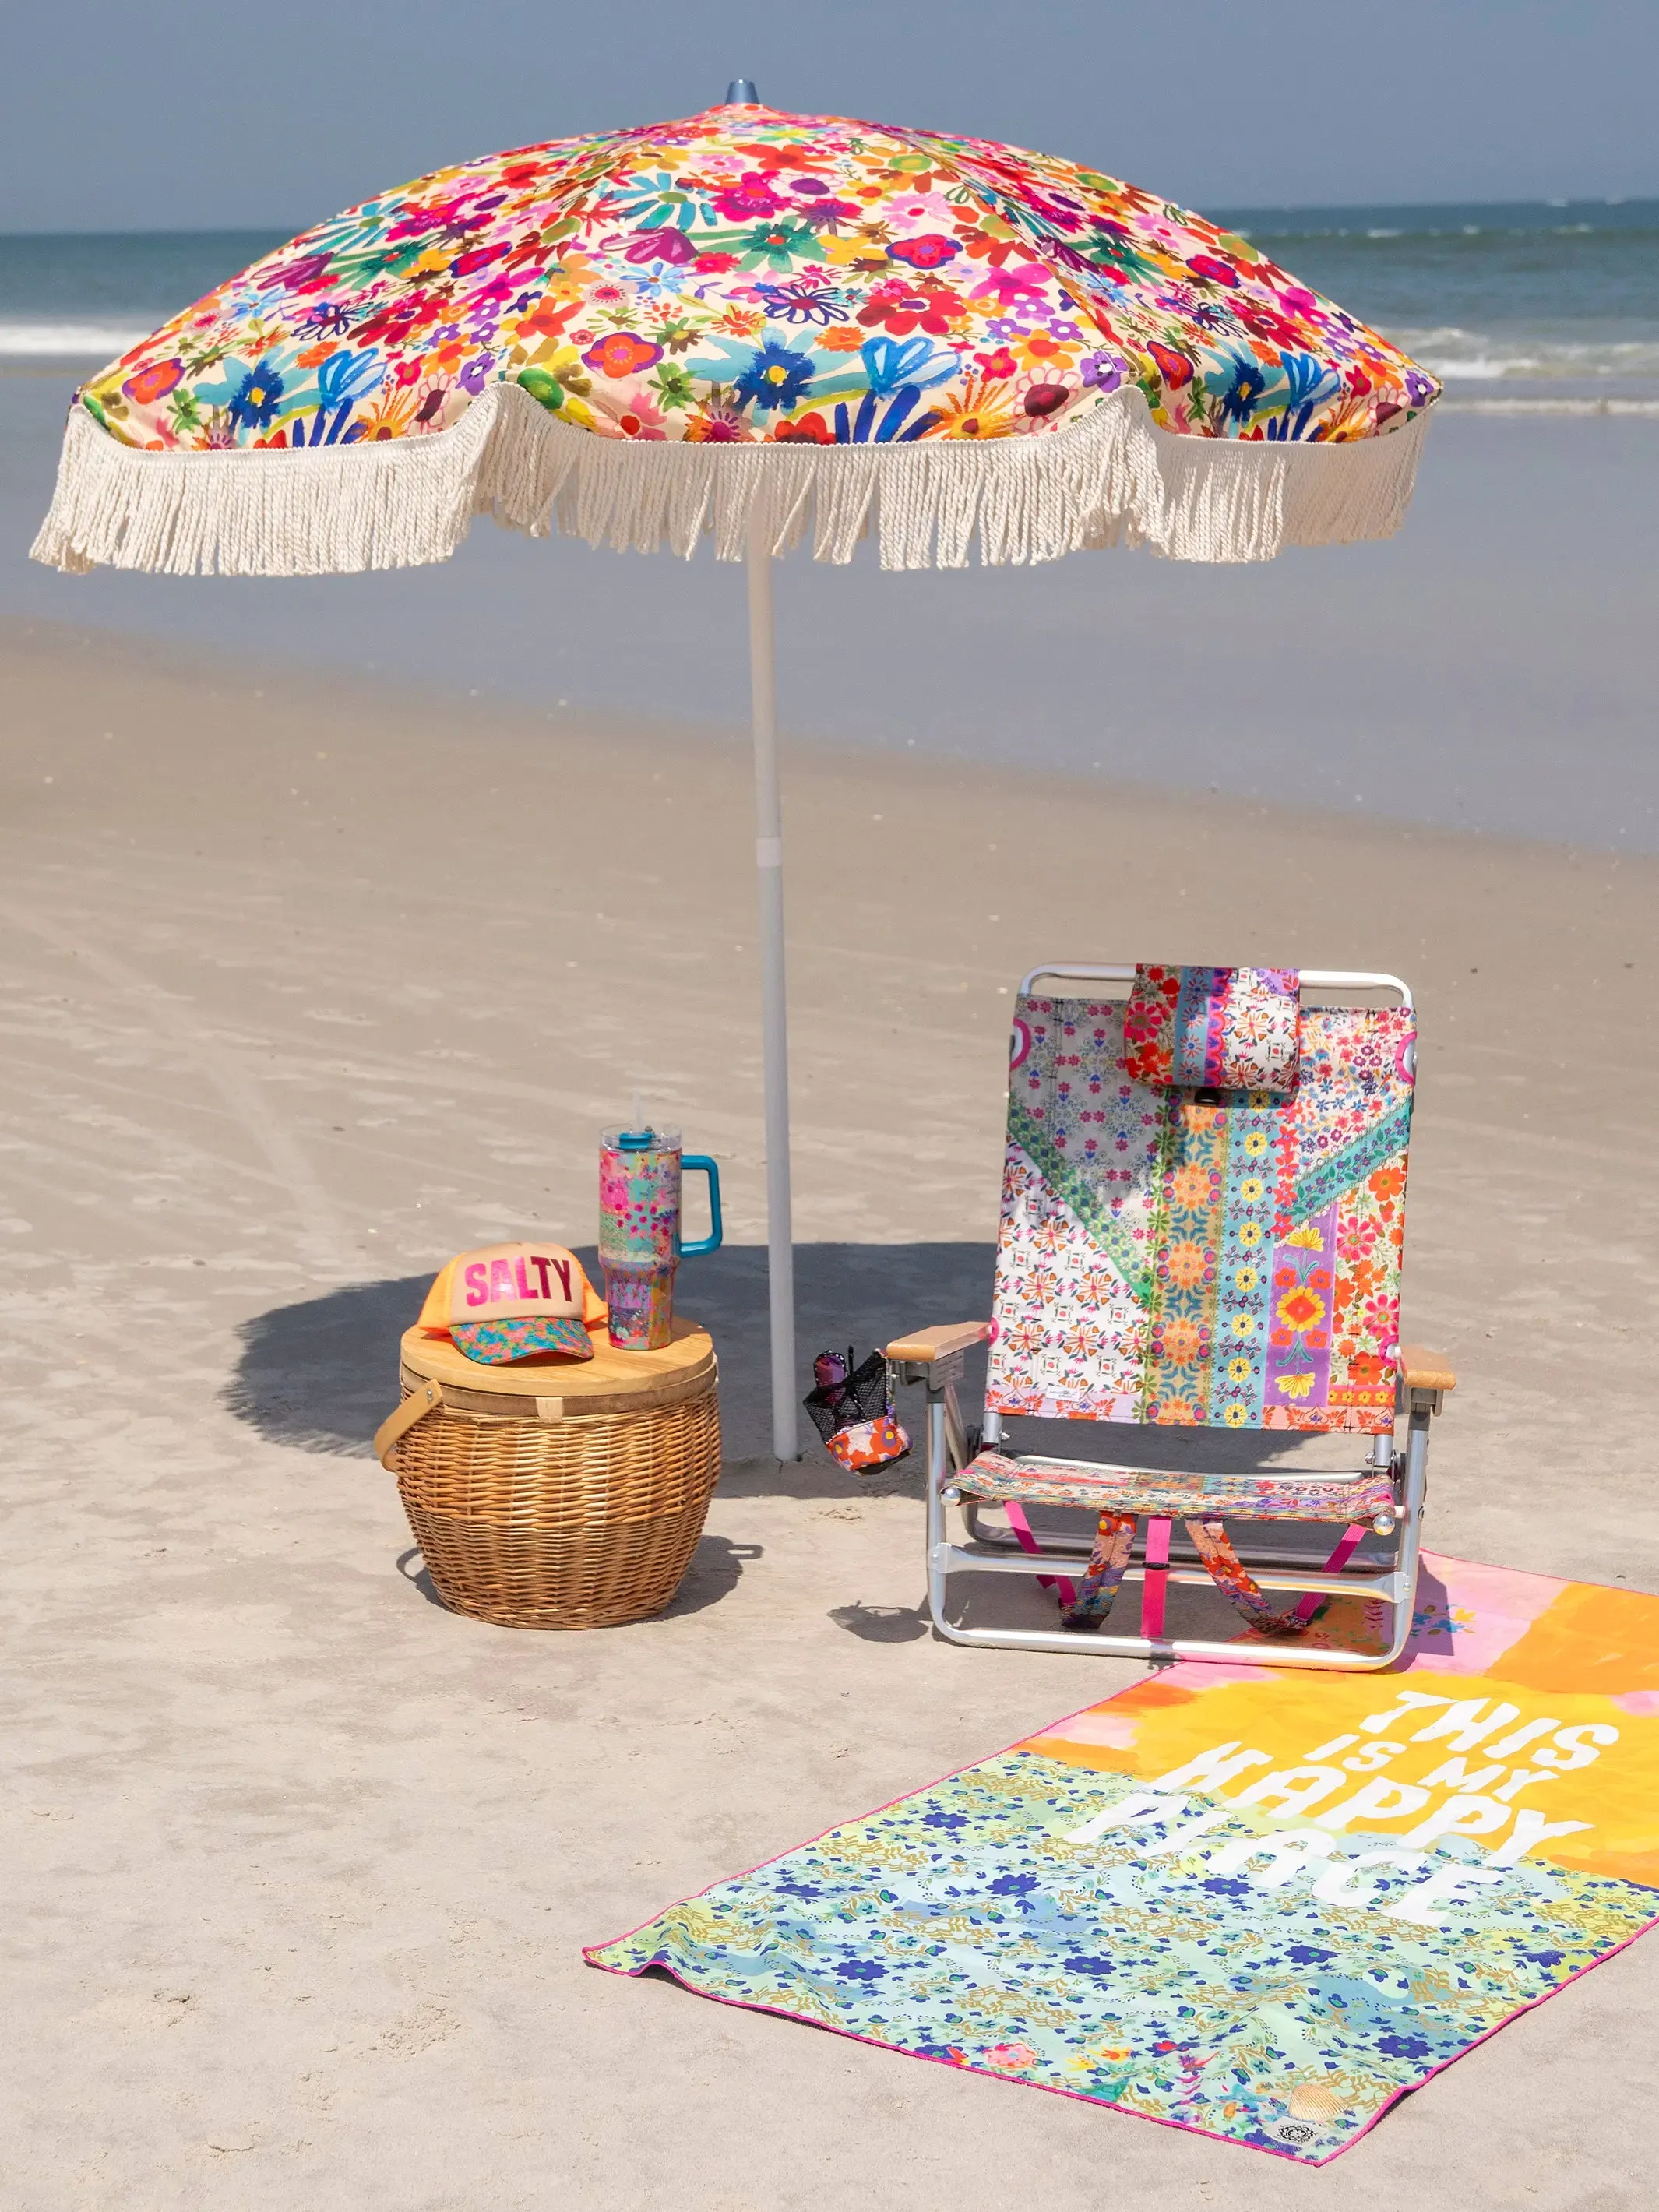
{"label": "brown wicker basket with wooden lid, under the cap and tumbler", "polygon": [[480,1367],[409,1329],[403,1405],[374,1449],[442,1601],[509,1628],[661,1613],[719,1478],[717,1376],[688,1321],[661,1352],[597,1340],[593,1360],[531,1367]]}

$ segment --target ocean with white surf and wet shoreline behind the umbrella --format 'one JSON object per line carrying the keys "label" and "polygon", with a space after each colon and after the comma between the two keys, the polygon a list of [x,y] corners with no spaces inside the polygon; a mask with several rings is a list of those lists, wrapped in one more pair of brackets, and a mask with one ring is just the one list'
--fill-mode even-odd
{"label": "ocean with white surf and wet shoreline behind the umbrella", "polygon": [[[1206,212],[1447,378],[1405,531],[1263,568],[783,562],[785,726],[1659,852],[1659,201]],[[703,557],[480,524],[447,566],[374,577],[27,560],[75,378],[276,243],[0,237],[0,619],[493,695],[526,728],[739,728],[743,577]]]}

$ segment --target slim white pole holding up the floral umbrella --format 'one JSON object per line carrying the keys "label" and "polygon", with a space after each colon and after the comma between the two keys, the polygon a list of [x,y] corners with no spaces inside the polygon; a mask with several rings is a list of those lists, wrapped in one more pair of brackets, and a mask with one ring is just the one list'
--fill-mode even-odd
{"label": "slim white pole holding up the floral umbrella", "polygon": [[[759,502],[757,502],[759,507]],[[794,1232],[790,1225],[790,1015],[783,989],[783,801],[779,794],[772,542],[750,520],[750,712],[754,721],[754,872],[761,891],[765,1066],[765,1248],[772,1298],[772,1453],[799,1460],[794,1411]]]}

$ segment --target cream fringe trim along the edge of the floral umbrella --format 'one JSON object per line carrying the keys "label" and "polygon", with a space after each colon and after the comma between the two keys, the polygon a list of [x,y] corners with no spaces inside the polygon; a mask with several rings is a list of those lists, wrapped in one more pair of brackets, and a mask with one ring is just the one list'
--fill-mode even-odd
{"label": "cream fringe trim along the edge of the floral umbrella", "polygon": [[741,560],[750,515],[776,551],[812,529],[847,562],[872,529],[883,568],[1040,562],[1148,544],[1172,560],[1272,560],[1287,544],[1387,538],[1405,518],[1427,418],[1352,445],[1267,445],[1159,429],[1137,389],[1073,429],[984,445],[684,445],[604,438],[493,385],[453,429],[352,447],[150,453],[75,403],[33,557],[164,575],[338,575],[449,560],[473,515],[588,544]]}

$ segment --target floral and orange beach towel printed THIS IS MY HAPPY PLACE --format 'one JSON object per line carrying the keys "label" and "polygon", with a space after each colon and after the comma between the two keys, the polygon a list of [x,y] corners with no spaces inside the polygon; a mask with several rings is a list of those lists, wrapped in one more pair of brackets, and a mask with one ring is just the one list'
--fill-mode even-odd
{"label": "floral and orange beach towel printed THIS IS MY HAPPY PLACE", "polygon": [[1425,1553],[1387,1674],[1245,1637],[586,1958],[1321,2166],[1655,1918],[1659,1597]]}

